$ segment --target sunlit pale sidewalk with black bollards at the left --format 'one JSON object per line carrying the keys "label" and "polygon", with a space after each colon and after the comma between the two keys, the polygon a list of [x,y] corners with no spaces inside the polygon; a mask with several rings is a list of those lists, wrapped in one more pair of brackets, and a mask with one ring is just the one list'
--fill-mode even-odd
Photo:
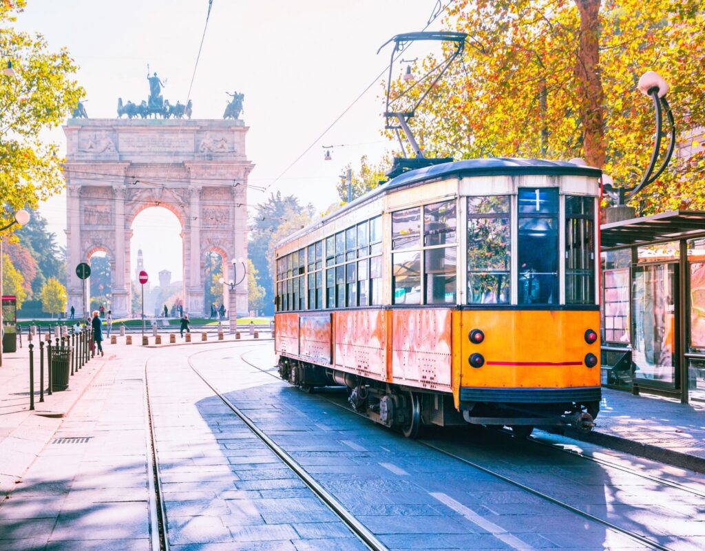
{"label": "sunlit pale sidewalk with black bollards at the left", "polygon": [[[30,411],[30,362],[27,341],[15,353],[3,354],[0,368],[0,499],[13,489],[37,454],[51,440],[54,432],[91,384],[107,361],[92,358],[73,377],[69,387],[51,396],[44,392],[39,401],[39,341],[35,340],[35,411]],[[45,352],[46,360],[46,352]],[[44,389],[47,389],[47,365],[44,363]]]}

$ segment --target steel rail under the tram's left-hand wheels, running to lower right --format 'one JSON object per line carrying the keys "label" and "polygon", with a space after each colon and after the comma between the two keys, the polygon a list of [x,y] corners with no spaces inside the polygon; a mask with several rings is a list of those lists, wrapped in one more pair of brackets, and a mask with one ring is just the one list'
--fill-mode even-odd
{"label": "steel rail under the tram's left-hand wheels, running to lower right", "polygon": [[[240,355],[240,359],[247,363],[247,365],[251,365],[253,368],[262,371],[262,373],[266,373],[267,375],[271,375],[273,377],[276,377],[273,373],[270,371],[264,370],[262,368],[259,368],[259,366],[253,364],[250,361],[245,360],[243,358],[243,354]],[[281,377],[276,377],[279,380],[281,380]],[[350,413],[355,413],[355,415],[359,415],[361,417],[367,418],[367,416],[362,415],[362,413],[358,413],[357,411],[353,411],[352,409],[344,406],[343,404],[338,404],[335,401],[332,401],[331,399],[328,399],[324,396],[320,396],[321,399],[324,399],[325,401],[329,402],[329,404],[333,404],[334,406],[338,406],[339,408],[343,408],[345,411],[350,411]],[[430,449],[434,449],[436,452],[440,452],[441,454],[444,454],[446,456],[452,457],[453,459],[456,459],[457,461],[461,461],[462,463],[465,463],[467,465],[470,465],[474,468],[477,468],[477,470],[482,471],[483,473],[489,474],[490,476],[494,476],[496,478],[499,478],[505,483],[511,484],[517,488],[520,488],[521,490],[524,490],[525,492],[529,492],[532,495],[535,495],[537,497],[540,497],[541,499],[544,499],[545,501],[548,501],[552,504],[558,505],[558,507],[562,507],[563,509],[567,509],[568,511],[571,511],[574,514],[577,514],[579,516],[582,516],[585,519],[589,519],[591,521],[594,521],[596,523],[601,524],[602,526],[606,526],[607,528],[610,528],[611,530],[620,533],[622,535],[625,535],[627,538],[630,538],[631,540],[636,541],[637,543],[641,543],[642,545],[646,545],[647,547],[650,547],[651,549],[657,549],[661,551],[673,551],[671,547],[666,547],[665,545],[661,545],[660,543],[651,540],[650,538],[646,538],[646,536],[643,536],[641,534],[632,532],[630,530],[627,530],[627,528],[622,528],[621,526],[618,526],[606,519],[601,519],[599,516],[595,516],[594,514],[588,513],[587,511],[583,511],[582,509],[579,509],[577,507],[572,506],[571,504],[568,504],[564,502],[561,499],[558,499],[556,497],[551,497],[548,494],[545,494],[544,492],[541,492],[540,490],[535,490],[534,488],[531,488],[530,486],[525,485],[524,483],[519,482],[518,480],[513,480],[512,478],[509,478],[508,476],[505,476],[501,473],[498,473],[496,471],[492,471],[490,468],[486,468],[482,465],[479,465],[475,463],[474,461],[470,461],[470,459],[465,459],[461,456],[458,456],[457,454],[453,454],[453,452],[448,452],[447,450],[436,446],[435,444],[431,444],[430,442],[424,442],[424,440],[416,440],[419,444],[422,444]],[[630,471],[632,472],[632,471]]]}

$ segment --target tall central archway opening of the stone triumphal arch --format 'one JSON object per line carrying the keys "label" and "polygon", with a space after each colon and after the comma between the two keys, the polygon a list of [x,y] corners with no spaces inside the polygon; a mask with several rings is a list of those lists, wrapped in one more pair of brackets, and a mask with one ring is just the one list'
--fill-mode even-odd
{"label": "tall central archway opening of the stone triumphal arch", "polygon": [[[125,217],[128,228],[125,279],[130,281],[129,305],[133,317],[142,310],[140,270],[149,281],[144,286],[145,317],[178,317],[187,295],[185,277],[184,214],[163,201],[147,200]],[[183,310],[182,310],[183,309]]]}

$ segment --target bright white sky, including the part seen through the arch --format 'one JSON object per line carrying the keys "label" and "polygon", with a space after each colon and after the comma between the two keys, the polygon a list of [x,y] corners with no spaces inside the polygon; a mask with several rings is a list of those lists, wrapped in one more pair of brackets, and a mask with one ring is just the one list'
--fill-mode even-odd
{"label": "bright white sky, including the part seen through the arch", "polygon": [[[443,0],[443,6],[448,2]],[[384,109],[381,80],[324,138],[299,157],[387,66],[391,46],[377,49],[400,32],[422,30],[436,0],[214,0],[190,97],[194,119],[220,119],[226,91],[245,94],[241,116],[250,127],[247,156],[255,164],[250,183],[297,195],[325,210],[336,200],[338,175],[362,155],[376,160],[393,144],[381,136]],[[116,116],[117,98],[142,99],[149,86],[147,64],[166,79],[164,97],[185,103],[203,35],[207,0],[28,0],[16,27],[39,32],[51,49],[66,47],[80,70],[85,107],[91,118]],[[429,30],[441,28],[441,18]],[[404,54],[428,52],[423,43]],[[396,63],[393,71],[404,70]],[[63,145],[63,131],[46,134]],[[338,145],[324,161],[323,145]],[[344,145],[340,147],[339,145]],[[250,189],[248,204],[264,193]],[[59,243],[66,244],[66,198],[42,205]],[[159,240],[154,239],[159,229]],[[181,231],[161,208],[143,211],[133,225],[131,250],[145,255],[154,275],[182,272]],[[156,281],[156,277],[152,278]]]}

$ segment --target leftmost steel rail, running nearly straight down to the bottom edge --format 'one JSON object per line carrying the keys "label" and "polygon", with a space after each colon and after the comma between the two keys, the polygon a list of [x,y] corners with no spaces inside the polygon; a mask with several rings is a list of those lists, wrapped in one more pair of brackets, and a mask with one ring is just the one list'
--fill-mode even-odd
{"label": "leftmost steel rail, running nearly straight down to the bottom edge", "polygon": [[[161,493],[159,478],[159,457],[157,456],[157,437],[154,435],[154,417],[152,404],[149,402],[149,380],[147,379],[147,365],[145,361],[145,423],[147,424],[147,449],[152,456],[152,464],[147,468],[147,482],[149,483],[149,532],[152,535],[152,551],[169,551],[169,538],[167,537],[166,509],[164,508],[164,495]],[[152,499],[154,498],[154,499]]]}

